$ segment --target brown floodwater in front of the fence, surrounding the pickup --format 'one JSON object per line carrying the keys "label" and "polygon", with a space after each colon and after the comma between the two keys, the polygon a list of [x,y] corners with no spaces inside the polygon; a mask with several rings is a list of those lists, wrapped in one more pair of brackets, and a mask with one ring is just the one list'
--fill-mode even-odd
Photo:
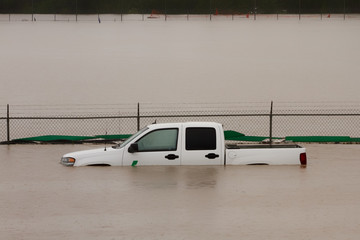
{"label": "brown floodwater in front of the fence, surrounding the pickup", "polygon": [[360,145],[308,166],[64,167],[99,145],[0,146],[1,239],[358,239]]}

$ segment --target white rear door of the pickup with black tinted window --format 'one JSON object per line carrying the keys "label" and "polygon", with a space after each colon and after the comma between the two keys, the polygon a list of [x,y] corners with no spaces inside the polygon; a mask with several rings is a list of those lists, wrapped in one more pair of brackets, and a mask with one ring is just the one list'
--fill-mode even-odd
{"label": "white rear door of the pickup with black tinted window", "polygon": [[181,165],[223,164],[223,143],[214,127],[185,127]]}

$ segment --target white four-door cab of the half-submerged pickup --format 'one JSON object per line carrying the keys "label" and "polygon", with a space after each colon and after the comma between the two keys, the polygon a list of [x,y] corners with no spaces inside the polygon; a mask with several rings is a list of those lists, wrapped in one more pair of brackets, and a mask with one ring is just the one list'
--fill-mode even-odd
{"label": "white four-door cab of the half-submerged pickup", "polygon": [[220,165],[224,135],[218,123],[150,125],[124,146],[122,165]]}

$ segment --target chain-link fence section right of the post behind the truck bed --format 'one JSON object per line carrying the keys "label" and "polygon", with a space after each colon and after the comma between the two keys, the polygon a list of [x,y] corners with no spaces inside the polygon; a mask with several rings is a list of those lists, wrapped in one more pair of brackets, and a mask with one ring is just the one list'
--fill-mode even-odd
{"label": "chain-link fence section right of the post behind the truck bed", "polygon": [[278,103],[274,109],[275,136],[360,136],[359,103]]}

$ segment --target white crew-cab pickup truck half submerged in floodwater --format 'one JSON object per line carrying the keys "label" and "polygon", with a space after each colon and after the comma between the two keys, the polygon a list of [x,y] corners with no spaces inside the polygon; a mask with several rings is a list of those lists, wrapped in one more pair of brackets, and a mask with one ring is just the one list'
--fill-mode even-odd
{"label": "white crew-cab pickup truck half submerged in floodwater", "polygon": [[122,144],[65,154],[66,166],[135,165],[306,165],[295,144],[225,145],[221,124],[152,124]]}

